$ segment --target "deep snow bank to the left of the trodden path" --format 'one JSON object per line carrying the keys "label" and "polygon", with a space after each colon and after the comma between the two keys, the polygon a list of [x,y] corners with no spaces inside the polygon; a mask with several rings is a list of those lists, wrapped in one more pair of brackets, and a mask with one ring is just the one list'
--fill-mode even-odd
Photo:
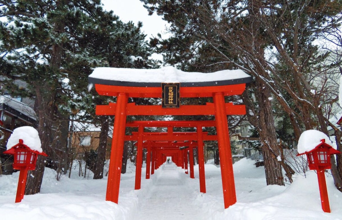
{"label": "deep snow bank to the left of the trodden path", "polygon": [[90,179],[82,178],[77,175],[78,168],[71,172],[72,179],[62,176],[60,181],[56,180],[54,170],[45,168],[41,193],[25,195],[21,203],[14,203],[19,172],[3,175],[0,219],[131,219],[138,207],[139,194],[144,191],[132,190],[135,170],[130,170],[131,173],[122,175],[127,179],[121,181],[119,205],[105,201],[107,177],[92,180],[90,172]]}

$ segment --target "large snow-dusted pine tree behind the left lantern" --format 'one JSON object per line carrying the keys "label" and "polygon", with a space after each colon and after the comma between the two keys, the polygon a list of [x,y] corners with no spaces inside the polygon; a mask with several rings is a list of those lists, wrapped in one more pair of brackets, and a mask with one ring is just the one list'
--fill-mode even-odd
{"label": "large snow-dusted pine tree behind the left lantern", "polygon": [[[156,66],[147,59],[150,53],[141,24],[135,27],[119,21],[113,12],[103,11],[100,0],[1,3],[0,16],[7,18],[0,24],[3,84],[8,91],[35,98],[37,130],[49,156],[56,155],[53,129],[58,122],[68,120],[71,112],[92,100],[85,88],[93,67]],[[131,55],[143,58],[132,61]],[[17,80],[26,82],[27,87],[18,88],[13,83]],[[78,103],[81,100],[86,102]],[[103,99],[96,100],[104,104]],[[90,108],[94,109],[99,103],[92,102]],[[36,171],[28,176],[26,194],[40,191],[43,172],[44,158],[39,157]]]}

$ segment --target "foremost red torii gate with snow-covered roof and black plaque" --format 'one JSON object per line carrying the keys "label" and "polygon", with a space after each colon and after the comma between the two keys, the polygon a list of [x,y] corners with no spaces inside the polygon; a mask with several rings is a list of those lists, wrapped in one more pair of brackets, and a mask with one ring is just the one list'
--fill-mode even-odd
{"label": "foremost red torii gate with snow-covered roof and black plaque", "polygon": [[[130,75],[130,73],[132,74]],[[139,76],[144,77],[139,82],[134,81]],[[194,78],[196,80],[192,80]],[[209,78],[210,80],[208,80]],[[242,70],[223,70],[202,74],[181,73],[180,70],[173,67],[151,70],[101,67],[95,68],[88,80],[95,85],[98,94],[117,97],[116,103],[96,106],[97,115],[115,115],[106,200],[118,203],[127,115],[215,115],[224,207],[227,208],[236,203],[232,153],[226,116],[246,114],[246,108],[245,105],[225,103],[224,96],[242,94],[246,88],[246,83],[251,82],[252,77]],[[179,94],[175,93],[174,97],[172,93],[171,99],[170,96],[168,98],[169,104],[176,104],[176,107],[179,107],[180,98],[212,97],[214,102],[206,105],[182,105],[179,108],[128,103],[129,97],[164,98],[162,93],[166,87],[162,88],[165,86],[162,83],[165,82],[180,83],[175,87],[175,92],[179,92]],[[175,102],[172,103],[173,101]],[[163,104],[166,105],[167,103]],[[139,133],[138,142],[142,142],[143,132]],[[197,133],[199,141],[203,141],[201,140],[202,128],[197,129]]]}

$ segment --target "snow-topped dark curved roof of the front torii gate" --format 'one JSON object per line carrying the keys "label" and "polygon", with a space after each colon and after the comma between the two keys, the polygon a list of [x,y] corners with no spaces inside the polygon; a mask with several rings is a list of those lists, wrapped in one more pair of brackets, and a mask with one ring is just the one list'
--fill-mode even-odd
{"label": "snow-topped dark curved roof of the front torii gate", "polygon": [[162,82],[180,82],[182,87],[205,87],[250,83],[252,77],[240,69],[189,73],[172,66],[160,69],[98,67],[89,75],[88,80],[92,84],[110,86],[160,87]]}

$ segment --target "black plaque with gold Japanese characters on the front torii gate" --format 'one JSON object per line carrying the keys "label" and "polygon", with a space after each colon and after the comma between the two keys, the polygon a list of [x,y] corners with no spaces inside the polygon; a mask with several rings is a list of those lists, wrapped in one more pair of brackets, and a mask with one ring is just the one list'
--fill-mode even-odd
{"label": "black plaque with gold Japanese characters on the front torii gate", "polygon": [[161,83],[162,108],[179,108],[181,83]]}

